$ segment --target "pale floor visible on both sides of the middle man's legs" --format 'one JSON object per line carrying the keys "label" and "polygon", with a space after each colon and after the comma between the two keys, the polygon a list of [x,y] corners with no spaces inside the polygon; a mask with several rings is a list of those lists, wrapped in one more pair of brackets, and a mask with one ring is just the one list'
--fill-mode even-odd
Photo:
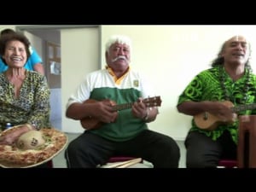
{"label": "pale floor visible on both sides of the middle man's legs", "polygon": [[[68,142],[72,141],[74,138],[76,138],[78,136],[79,136],[79,134],[67,133]],[[179,167],[185,168],[185,147],[183,145],[183,141],[177,141],[177,144],[178,144],[178,146],[180,148],[180,152],[181,152],[181,159],[179,162]],[[61,153],[56,155],[55,158],[53,159],[55,168],[67,168],[66,160],[64,158],[64,151],[65,151],[65,149],[63,149],[61,151]]]}

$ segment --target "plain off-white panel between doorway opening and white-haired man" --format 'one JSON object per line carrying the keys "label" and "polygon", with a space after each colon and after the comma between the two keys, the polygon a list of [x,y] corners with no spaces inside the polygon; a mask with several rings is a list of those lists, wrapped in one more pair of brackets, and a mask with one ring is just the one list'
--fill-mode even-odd
{"label": "plain off-white panel between doorway opening and white-haired man", "polygon": [[79,120],[66,118],[66,104],[86,73],[99,69],[99,44],[97,27],[61,30],[62,131],[84,131]]}

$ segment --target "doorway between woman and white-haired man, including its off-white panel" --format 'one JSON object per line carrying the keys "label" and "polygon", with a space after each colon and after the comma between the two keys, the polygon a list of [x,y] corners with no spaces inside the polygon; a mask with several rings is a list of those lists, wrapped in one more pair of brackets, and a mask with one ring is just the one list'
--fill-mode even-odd
{"label": "doorway between woman and white-haired man, including its off-white panel", "polygon": [[[96,30],[92,33],[83,31],[91,28]],[[24,32],[38,54],[42,55],[45,76],[51,91],[50,119],[53,127],[61,131],[83,131],[78,121],[65,118],[65,108],[68,97],[74,91],[74,85],[78,85],[86,73],[101,66],[98,30],[98,26],[16,26],[16,31]],[[96,47],[92,47],[91,43]],[[68,54],[63,56],[63,49]]]}

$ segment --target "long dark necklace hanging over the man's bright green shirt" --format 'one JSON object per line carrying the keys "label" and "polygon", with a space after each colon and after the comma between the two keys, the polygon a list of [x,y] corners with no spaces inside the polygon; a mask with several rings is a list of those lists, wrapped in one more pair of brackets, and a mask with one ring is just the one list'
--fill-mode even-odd
{"label": "long dark necklace hanging over the man's bright green shirt", "polygon": [[[244,86],[241,88],[241,90],[238,92],[233,93],[232,95],[229,94],[229,91],[227,90],[225,86],[225,73],[224,73],[224,67],[219,67],[219,81],[220,81],[220,87],[224,92],[224,100],[230,101],[233,103],[239,103],[239,104],[245,104],[247,102],[247,92],[250,89],[250,72],[251,68],[247,67],[247,70],[245,70],[246,80]],[[235,97],[236,94],[241,94],[241,98]]]}

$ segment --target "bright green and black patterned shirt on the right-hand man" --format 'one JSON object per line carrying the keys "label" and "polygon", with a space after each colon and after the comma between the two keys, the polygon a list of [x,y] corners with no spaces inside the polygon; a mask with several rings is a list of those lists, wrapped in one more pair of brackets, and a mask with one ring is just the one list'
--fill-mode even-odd
{"label": "bright green and black patterned shirt on the right-hand man", "polygon": [[[221,74],[223,80],[221,80]],[[183,93],[178,97],[177,105],[186,102],[201,102],[201,101],[226,101],[225,95],[228,95],[230,102],[237,105],[255,103],[256,100],[256,75],[250,73],[246,69],[246,74],[241,79],[233,81],[230,76],[225,73],[223,66],[212,67],[197,74],[195,78],[183,90]],[[247,78],[248,77],[248,78]],[[221,82],[224,83],[222,88]],[[246,85],[247,84],[247,85]],[[256,110],[245,110],[237,113],[241,114],[256,114]],[[213,131],[201,129],[195,125],[192,119],[192,127],[190,131],[200,131],[216,140],[225,130],[230,131],[232,139],[238,143],[238,121],[229,125],[218,125]]]}

